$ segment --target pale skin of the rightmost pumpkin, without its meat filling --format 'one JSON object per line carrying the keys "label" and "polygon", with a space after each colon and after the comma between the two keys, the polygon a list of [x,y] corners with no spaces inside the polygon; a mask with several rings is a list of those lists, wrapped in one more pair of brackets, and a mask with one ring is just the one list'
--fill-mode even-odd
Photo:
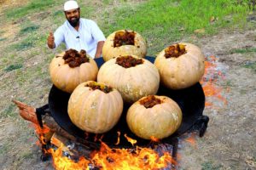
{"label": "pale skin of the rightmost pumpkin, without its meat filling", "polygon": [[174,90],[189,88],[199,82],[205,71],[205,56],[201,49],[191,43],[179,44],[185,46],[186,54],[166,59],[164,49],[154,60],[160,73],[160,82]]}

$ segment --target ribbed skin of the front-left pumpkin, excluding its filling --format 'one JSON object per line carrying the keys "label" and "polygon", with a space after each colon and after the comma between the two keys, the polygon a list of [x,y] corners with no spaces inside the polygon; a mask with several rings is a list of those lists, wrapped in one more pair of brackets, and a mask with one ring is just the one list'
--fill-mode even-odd
{"label": "ribbed skin of the front-left pumpkin, excluding its filling", "polygon": [[119,121],[123,99],[114,88],[111,92],[104,93],[100,89],[85,87],[90,83],[108,87],[93,81],[79,84],[68,100],[68,116],[73,124],[88,133],[105,133]]}

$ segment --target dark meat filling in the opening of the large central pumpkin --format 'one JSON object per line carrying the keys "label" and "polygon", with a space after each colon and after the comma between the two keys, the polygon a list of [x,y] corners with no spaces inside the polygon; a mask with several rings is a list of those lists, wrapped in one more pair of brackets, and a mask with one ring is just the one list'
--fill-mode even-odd
{"label": "dark meat filling in the opening of the large central pumpkin", "polygon": [[136,65],[143,64],[143,59],[136,59],[131,55],[127,55],[117,58],[115,63],[121,65],[122,67],[130,68]]}

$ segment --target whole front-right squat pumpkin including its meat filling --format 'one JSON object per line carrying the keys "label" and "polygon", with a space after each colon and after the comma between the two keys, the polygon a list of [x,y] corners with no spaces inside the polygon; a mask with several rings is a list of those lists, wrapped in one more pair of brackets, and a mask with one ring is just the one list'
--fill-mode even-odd
{"label": "whole front-right squat pumpkin including its meat filling", "polygon": [[142,139],[164,139],[180,127],[182,116],[174,100],[150,95],[131,105],[126,122],[131,132]]}

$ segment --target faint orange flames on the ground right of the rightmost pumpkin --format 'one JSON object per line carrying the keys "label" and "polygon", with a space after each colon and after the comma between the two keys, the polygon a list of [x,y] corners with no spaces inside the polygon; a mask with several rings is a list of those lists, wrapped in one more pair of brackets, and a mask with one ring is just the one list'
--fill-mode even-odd
{"label": "faint orange flames on the ground right of the rightmost pumpkin", "polygon": [[[222,95],[223,88],[218,87],[216,82],[219,78],[224,79],[224,73],[221,70],[221,65],[218,63],[218,58],[215,56],[206,57],[205,75],[201,80],[201,85],[206,97],[215,97],[226,105],[227,99]],[[212,102],[206,101],[206,106],[213,107]]]}

